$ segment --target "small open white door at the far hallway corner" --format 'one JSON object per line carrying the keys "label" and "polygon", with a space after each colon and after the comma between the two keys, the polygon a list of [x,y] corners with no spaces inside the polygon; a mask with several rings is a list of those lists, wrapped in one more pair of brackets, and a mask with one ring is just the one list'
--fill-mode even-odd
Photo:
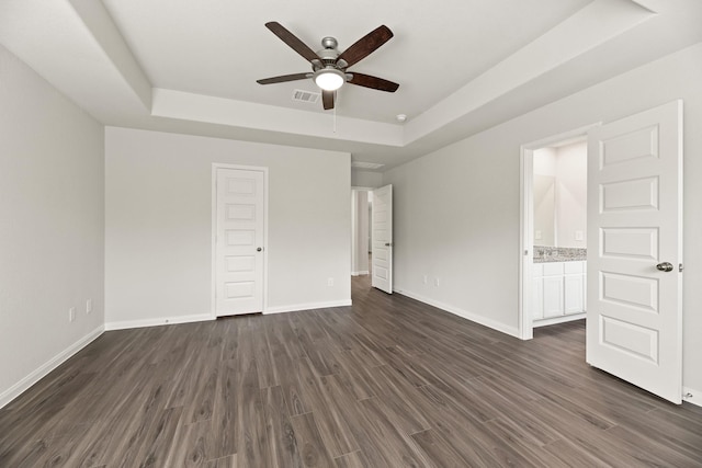
{"label": "small open white door at the far hallway corner", "polygon": [[393,185],[373,191],[373,271],[371,284],[393,294]]}

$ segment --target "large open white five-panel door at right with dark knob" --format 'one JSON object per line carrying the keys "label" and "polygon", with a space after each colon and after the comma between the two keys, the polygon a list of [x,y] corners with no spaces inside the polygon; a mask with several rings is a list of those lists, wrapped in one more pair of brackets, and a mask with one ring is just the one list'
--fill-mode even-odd
{"label": "large open white five-panel door at right with dark knob", "polygon": [[590,130],[587,361],[682,393],[682,102]]}

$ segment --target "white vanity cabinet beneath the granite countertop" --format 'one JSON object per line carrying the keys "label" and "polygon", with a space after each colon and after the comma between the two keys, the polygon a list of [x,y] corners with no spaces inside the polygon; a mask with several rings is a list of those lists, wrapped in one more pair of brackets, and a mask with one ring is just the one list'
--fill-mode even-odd
{"label": "white vanity cabinet beneath the granite countertop", "polygon": [[532,320],[585,312],[585,261],[534,263],[532,278]]}

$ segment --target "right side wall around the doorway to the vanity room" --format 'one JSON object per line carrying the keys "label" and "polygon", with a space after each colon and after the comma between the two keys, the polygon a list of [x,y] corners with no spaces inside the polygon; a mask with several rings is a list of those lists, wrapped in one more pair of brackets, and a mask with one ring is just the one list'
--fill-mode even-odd
{"label": "right side wall around the doorway to the vanity room", "polygon": [[[684,100],[683,385],[702,389],[702,44],[390,170],[395,286],[517,334],[520,146]],[[422,275],[440,277],[439,287]]]}

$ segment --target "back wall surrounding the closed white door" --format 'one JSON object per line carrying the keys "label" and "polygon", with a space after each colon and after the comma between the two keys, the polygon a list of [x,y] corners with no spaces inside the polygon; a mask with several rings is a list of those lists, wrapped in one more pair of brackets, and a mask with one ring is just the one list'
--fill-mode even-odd
{"label": "back wall surrounding the closed white door", "polygon": [[350,303],[349,153],[115,127],[105,148],[107,328],[210,316],[213,162],[269,168],[267,310]]}

